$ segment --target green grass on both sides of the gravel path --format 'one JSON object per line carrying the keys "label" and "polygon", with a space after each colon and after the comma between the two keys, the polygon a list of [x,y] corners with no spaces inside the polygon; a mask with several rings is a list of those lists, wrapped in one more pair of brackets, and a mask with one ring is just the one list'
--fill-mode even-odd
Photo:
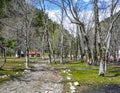
{"label": "green grass on both sides of the gravel path", "polygon": [[[31,58],[30,61],[38,61],[40,58]],[[3,59],[0,59],[0,65],[3,63]],[[80,86],[76,86],[77,93],[87,89],[99,89],[101,86],[117,84],[120,85],[120,67],[109,66],[108,72],[104,77],[98,76],[99,66],[88,66],[86,63],[80,61],[67,60],[64,64],[51,64],[53,67],[58,68],[64,77],[65,90],[69,93],[69,82],[79,82]],[[3,70],[0,70],[0,83],[12,79],[12,76],[21,76],[24,74],[25,58],[7,58]],[[69,70],[69,75],[72,79],[67,80],[68,73],[64,73],[65,70]]]}

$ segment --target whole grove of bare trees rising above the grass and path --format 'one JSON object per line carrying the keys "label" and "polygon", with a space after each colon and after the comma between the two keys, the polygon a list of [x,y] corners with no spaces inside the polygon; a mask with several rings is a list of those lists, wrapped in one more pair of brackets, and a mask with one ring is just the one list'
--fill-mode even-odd
{"label": "whole grove of bare trees rising above the grass and path", "polygon": [[[6,54],[13,56],[17,53],[20,57],[19,52],[23,51],[25,66],[29,69],[29,51],[40,51],[43,59],[47,53],[50,63],[59,60],[63,64],[69,58],[99,65],[99,75],[104,76],[109,57],[112,55],[114,62],[120,57],[120,1],[105,2],[1,0],[0,56],[6,58]],[[59,23],[49,18],[48,6],[58,8]],[[82,14],[89,9],[89,14]],[[109,13],[109,16],[101,15],[103,13]],[[75,26],[75,29],[69,29],[73,33],[65,28],[65,18]]]}

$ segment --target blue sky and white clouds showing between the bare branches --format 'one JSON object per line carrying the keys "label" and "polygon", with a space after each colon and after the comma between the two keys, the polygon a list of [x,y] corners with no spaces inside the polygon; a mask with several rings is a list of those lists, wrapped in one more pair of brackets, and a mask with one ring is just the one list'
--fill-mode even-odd
{"label": "blue sky and white clouds showing between the bare branches", "polygon": [[[33,0],[36,1],[36,7],[39,7],[39,3],[37,2],[37,0]],[[39,0],[38,0],[39,1]],[[42,1],[42,0],[41,0]],[[60,1],[60,0],[57,0]],[[93,0],[75,0],[77,1],[78,7],[80,7],[80,20],[82,22],[86,22],[86,26],[87,24],[91,21],[93,22]],[[107,6],[108,4],[110,4],[111,0],[99,0],[99,6]],[[101,2],[101,3],[100,3]],[[120,3],[120,0],[119,0]],[[46,13],[48,13],[48,16],[50,19],[52,19],[53,21],[59,23],[60,22],[60,8],[54,4],[51,4],[49,2],[45,2],[45,7],[46,7]],[[116,11],[120,10],[120,5],[116,8]],[[103,13],[102,11],[99,13],[100,14],[100,20],[103,20],[104,18],[108,17],[110,15],[110,11],[109,9],[107,10],[107,12]],[[71,16],[72,17],[72,16]],[[93,24],[93,23],[91,23]],[[63,23],[64,27],[66,27],[68,30],[69,29],[74,29],[75,25],[70,23],[70,20],[65,17],[64,18],[64,23]]]}

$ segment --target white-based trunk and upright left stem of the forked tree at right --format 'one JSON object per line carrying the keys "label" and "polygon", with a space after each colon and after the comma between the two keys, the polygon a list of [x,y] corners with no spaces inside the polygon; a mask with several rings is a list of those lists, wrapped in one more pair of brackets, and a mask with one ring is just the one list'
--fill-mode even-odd
{"label": "white-based trunk and upright left stem of the forked tree at right", "polygon": [[[104,76],[106,72],[106,60],[105,60],[105,49],[104,45],[102,42],[102,37],[100,35],[101,33],[101,28],[100,28],[100,23],[99,23],[99,15],[98,15],[98,0],[94,0],[94,16],[95,16],[95,37],[98,34],[98,40],[94,42],[94,53],[97,53],[96,51],[96,46],[98,44],[99,47],[99,57],[100,57],[100,67],[99,67],[99,76]],[[95,38],[96,39],[96,38]],[[97,54],[94,54],[97,55]],[[96,56],[94,56],[94,60],[96,60]]]}

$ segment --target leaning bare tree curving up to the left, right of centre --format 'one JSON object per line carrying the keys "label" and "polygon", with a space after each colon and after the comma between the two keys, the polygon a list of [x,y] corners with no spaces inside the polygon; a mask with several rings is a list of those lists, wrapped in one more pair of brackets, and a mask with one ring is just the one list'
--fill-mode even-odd
{"label": "leaning bare tree curving up to the left, right of centre", "polygon": [[[68,4],[69,7],[69,11],[72,15],[73,18],[70,17],[70,15],[67,12],[67,8],[66,8],[66,4]],[[72,7],[71,7],[72,6]],[[74,1],[74,3],[72,2],[72,0],[67,0],[67,3],[64,1],[63,3],[63,9],[67,15],[67,17],[69,18],[69,20],[71,21],[71,23],[76,24],[76,29],[77,29],[77,37],[78,37],[78,41],[79,42],[79,50],[81,53],[81,59],[83,59],[84,56],[86,56],[86,59],[89,63],[89,61],[91,60],[91,49],[90,49],[90,44],[89,44],[89,38],[87,36],[87,31],[85,29],[85,24],[84,22],[82,22],[80,20],[80,15],[79,15],[79,8],[77,6],[77,1]],[[77,51],[76,51],[77,52]],[[77,54],[76,54],[77,55]]]}

